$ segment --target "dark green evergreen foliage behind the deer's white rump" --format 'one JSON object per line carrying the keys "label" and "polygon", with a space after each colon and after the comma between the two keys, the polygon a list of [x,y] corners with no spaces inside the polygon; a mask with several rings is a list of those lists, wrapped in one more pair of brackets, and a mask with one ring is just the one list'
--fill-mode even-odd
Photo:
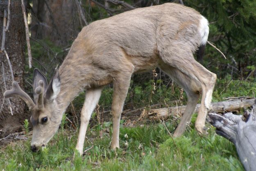
{"label": "dark green evergreen foliage behind the deer's white rump", "polygon": [[[256,1],[255,0],[186,0],[185,5],[197,9],[210,23],[209,41],[227,56],[227,60],[208,46],[206,61],[219,77],[234,74],[246,77],[256,59]],[[206,64],[206,63],[205,63]],[[206,64],[207,65],[207,64]],[[220,72],[221,70],[222,72]]]}

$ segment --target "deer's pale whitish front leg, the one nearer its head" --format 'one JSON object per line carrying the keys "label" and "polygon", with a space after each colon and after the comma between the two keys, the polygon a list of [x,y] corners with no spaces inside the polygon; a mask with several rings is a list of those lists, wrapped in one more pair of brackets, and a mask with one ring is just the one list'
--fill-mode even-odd
{"label": "deer's pale whitish front leg, the one nearer its head", "polygon": [[91,114],[100,99],[101,92],[102,92],[102,88],[86,90],[84,106],[81,112],[81,124],[79,129],[79,135],[78,135],[77,145],[75,147],[79,151],[80,155],[83,154],[84,139],[85,139],[87,126],[91,118]]}

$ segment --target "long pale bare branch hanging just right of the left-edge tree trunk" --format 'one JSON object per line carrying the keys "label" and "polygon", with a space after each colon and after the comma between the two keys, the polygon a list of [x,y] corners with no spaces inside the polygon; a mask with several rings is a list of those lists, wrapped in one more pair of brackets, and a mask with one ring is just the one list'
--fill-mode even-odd
{"label": "long pale bare branch hanging just right of the left-edge tree trunk", "polygon": [[24,5],[24,0],[21,0],[21,7],[22,7],[24,23],[25,23],[25,27],[26,27],[28,65],[29,65],[29,68],[32,68],[32,54],[31,54],[31,48],[30,48],[29,30],[28,30],[27,14],[26,14],[26,9],[25,9],[25,5]]}

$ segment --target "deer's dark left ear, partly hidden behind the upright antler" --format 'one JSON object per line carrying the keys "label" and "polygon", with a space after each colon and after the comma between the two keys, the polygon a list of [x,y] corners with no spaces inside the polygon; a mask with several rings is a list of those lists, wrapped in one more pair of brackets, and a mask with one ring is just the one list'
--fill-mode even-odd
{"label": "deer's dark left ear, partly hidden behind the upright antler", "polygon": [[45,78],[45,76],[42,74],[41,71],[39,71],[38,69],[34,70],[34,76],[33,76],[33,92],[34,92],[34,101],[36,102],[38,99],[38,94],[36,94],[35,90],[36,88],[39,86],[39,81],[42,80],[44,83],[44,90],[46,91],[47,88],[47,79]]}

